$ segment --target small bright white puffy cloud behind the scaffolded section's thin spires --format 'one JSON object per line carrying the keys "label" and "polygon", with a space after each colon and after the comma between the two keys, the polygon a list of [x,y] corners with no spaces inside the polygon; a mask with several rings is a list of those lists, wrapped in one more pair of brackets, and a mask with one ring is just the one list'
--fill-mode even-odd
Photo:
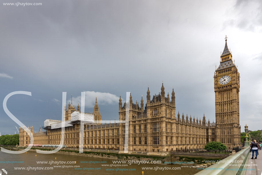
{"label": "small bright white puffy cloud behind the scaffolded section's thin spires", "polygon": [[[114,105],[119,102],[119,97],[114,94],[85,91],[85,107],[94,107],[95,97],[97,97],[98,105]],[[69,101],[71,101],[71,99]],[[73,97],[73,105],[76,105],[77,103],[81,106],[81,96]]]}

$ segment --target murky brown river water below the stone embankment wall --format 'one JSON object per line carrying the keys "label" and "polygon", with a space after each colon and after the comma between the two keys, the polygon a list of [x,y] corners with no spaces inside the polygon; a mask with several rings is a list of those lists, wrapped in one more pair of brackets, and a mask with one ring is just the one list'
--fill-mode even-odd
{"label": "murky brown river water below the stone embankment wall", "polygon": [[[35,157],[35,155],[37,155],[37,157]],[[57,160],[55,160],[55,158]],[[37,161],[45,161],[45,162],[37,163]],[[59,162],[59,161],[62,161],[62,162]],[[76,161],[76,164],[72,163],[74,161]],[[83,161],[87,163],[84,163]],[[185,168],[177,164],[176,165],[175,164],[171,164],[171,165],[131,164],[129,165],[128,164],[128,166],[122,166],[123,164],[118,164],[118,163],[114,164],[113,161],[114,160],[111,160],[111,159],[92,158],[92,157],[85,157],[85,156],[73,156],[73,155],[66,155],[66,154],[38,154],[35,151],[29,151],[27,152],[27,154],[26,153],[8,154],[8,153],[0,151],[0,171],[2,171],[2,175],[5,174],[2,169],[5,169],[8,175],[10,174],[27,174],[27,175],[31,175],[31,174],[34,174],[34,175],[35,174],[39,174],[39,175],[40,174],[41,175],[43,174],[48,174],[48,175],[53,175],[53,174],[72,174],[72,175],[73,174],[95,174],[95,175],[176,174],[176,175],[184,175],[184,174],[188,174],[190,175],[190,174],[195,174],[200,171],[200,170],[197,170],[196,168]],[[18,162],[23,162],[23,163],[18,163]],[[66,162],[66,163],[63,163],[63,162]],[[121,165],[121,166],[112,166],[112,164]],[[102,166],[102,165],[106,165],[106,166]],[[192,164],[189,164],[189,165],[192,165]],[[55,167],[55,166],[61,166],[61,167]],[[64,168],[62,166],[64,166]],[[65,166],[67,167],[71,166],[71,167],[67,168]],[[74,167],[74,166],[79,166],[79,167]],[[142,170],[142,168],[145,168],[145,167],[153,168],[153,170],[145,170],[145,169]],[[167,170],[167,169],[162,170],[165,167],[171,168],[171,169],[173,168],[176,170]],[[24,170],[21,170],[21,169],[17,170],[15,168],[24,168]],[[38,168],[38,169],[35,170],[35,168]],[[47,170],[48,168],[53,168],[53,169]],[[97,168],[97,170],[95,170],[95,168]],[[143,174],[142,174],[142,171],[144,172]]]}

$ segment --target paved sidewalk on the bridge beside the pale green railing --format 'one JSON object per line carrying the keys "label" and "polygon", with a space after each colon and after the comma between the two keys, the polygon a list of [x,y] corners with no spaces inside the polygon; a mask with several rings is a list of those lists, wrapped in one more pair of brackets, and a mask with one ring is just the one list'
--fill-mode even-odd
{"label": "paved sidewalk on the bridge beside the pale green railing", "polygon": [[[262,150],[258,150],[257,159],[252,158],[252,152],[249,155],[248,163],[249,165],[257,165],[257,166],[247,166],[247,171],[245,175],[262,175]],[[254,153],[254,158],[256,157],[256,153]],[[248,170],[248,169],[255,169],[255,170]]]}

